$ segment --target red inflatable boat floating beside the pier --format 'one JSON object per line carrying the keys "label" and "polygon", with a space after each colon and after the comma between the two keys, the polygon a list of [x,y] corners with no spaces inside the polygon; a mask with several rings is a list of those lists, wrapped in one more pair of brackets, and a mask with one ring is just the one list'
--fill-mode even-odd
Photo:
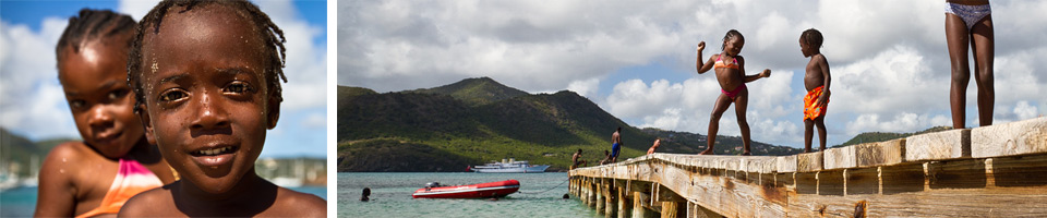
{"label": "red inflatable boat floating beside the pier", "polygon": [[411,196],[414,198],[504,197],[505,195],[516,193],[516,191],[519,189],[520,182],[516,180],[458,186],[440,186],[440,184],[430,184],[426,185],[426,187],[418,189],[418,191],[414,191],[414,194]]}

